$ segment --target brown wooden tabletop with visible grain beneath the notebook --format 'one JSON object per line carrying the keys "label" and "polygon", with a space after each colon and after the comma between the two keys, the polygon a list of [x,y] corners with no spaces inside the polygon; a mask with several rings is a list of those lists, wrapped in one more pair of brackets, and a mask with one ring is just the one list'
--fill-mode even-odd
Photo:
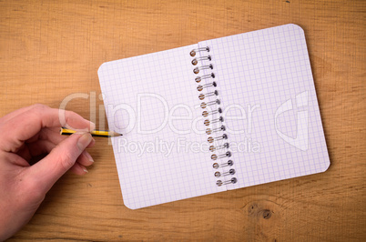
{"label": "brown wooden tabletop with visible grain beneath the notebook", "polygon": [[294,23],[305,30],[331,165],[130,210],[112,146],[97,140],[89,174],[59,180],[11,241],[366,239],[365,1],[75,2],[0,1],[0,116],[35,103],[59,107],[79,93],[87,98],[66,108],[103,126],[103,103],[93,101],[102,63]]}

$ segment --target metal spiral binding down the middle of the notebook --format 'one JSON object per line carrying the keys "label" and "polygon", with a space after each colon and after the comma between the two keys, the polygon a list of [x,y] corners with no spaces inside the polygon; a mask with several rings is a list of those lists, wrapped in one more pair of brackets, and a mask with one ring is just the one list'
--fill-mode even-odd
{"label": "metal spiral binding down the middle of the notebook", "polygon": [[[212,64],[208,65],[201,65],[198,66],[198,63],[204,64],[210,62],[212,60],[211,55],[203,55],[199,57],[195,57],[199,52],[208,53],[209,47],[201,47],[197,49],[193,49],[190,51],[189,55],[194,57],[191,61],[192,66],[196,66],[193,69],[193,73],[198,75],[201,71],[209,70],[211,71],[210,74],[197,76],[195,78],[196,83],[199,85],[197,86],[197,90],[200,93],[198,95],[198,99],[202,100],[200,107],[202,109],[207,109],[211,107],[210,110],[202,111],[202,116],[211,118],[205,119],[203,124],[205,126],[211,126],[206,129],[206,134],[208,135],[208,143],[211,144],[209,146],[209,151],[213,152],[214,154],[211,155],[211,159],[215,161],[212,165],[214,169],[219,169],[227,166],[233,166],[234,162],[232,160],[227,160],[231,156],[231,152],[229,151],[229,143],[225,142],[224,144],[219,143],[223,140],[228,139],[228,135],[225,134],[226,127],[222,124],[224,122],[224,118],[221,116],[222,109],[219,106],[221,104],[219,98],[215,96],[219,96],[219,91],[216,89],[218,86],[215,81],[211,81],[210,79],[215,78],[215,74],[213,73],[214,66]],[[207,80],[206,84],[200,84],[202,80]],[[203,93],[201,93],[203,92]],[[212,100],[212,97],[215,99]],[[211,100],[209,100],[211,99]],[[218,116],[215,117],[214,116]],[[218,127],[214,127],[214,124],[219,124]],[[219,162],[220,160],[220,162]],[[221,161],[224,160],[224,161]],[[216,162],[218,161],[218,162]],[[227,178],[228,176],[234,176],[236,173],[234,168],[230,168],[228,171],[220,172],[215,171],[214,176],[218,178],[216,185],[218,187],[223,185],[234,184],[238,182],[236,177]],[[219,179],[220,178],[220,179]],[[221,180],[222,179],[222,180]]]}

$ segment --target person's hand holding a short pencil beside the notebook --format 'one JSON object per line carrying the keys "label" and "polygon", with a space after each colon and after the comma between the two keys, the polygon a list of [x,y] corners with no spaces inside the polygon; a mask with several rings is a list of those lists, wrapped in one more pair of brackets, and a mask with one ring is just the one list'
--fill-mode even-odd
{"label": "person's hand holding a short pencil beside the notebook", "polygon": [[[81,132],[60,136],[66,126]],[[0,241],[15,234],[35,214],[47,191],[72,170],[86,174],[93,164],[85,151],[95,125],[76,113],[27,106],[0,118]],[[48,154],[39,161],[36,157]]]}

